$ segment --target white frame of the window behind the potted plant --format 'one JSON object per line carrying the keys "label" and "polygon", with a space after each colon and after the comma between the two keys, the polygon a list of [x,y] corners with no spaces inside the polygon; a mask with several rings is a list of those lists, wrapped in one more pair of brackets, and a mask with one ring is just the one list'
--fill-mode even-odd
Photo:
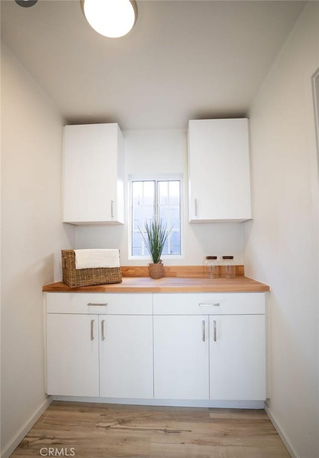
{"label": "white frame of the window behind the potted plant", "polygon": [[[184,259],[184,181],[182,174],[134,174],[129,175],[129,260],[151,260],[150,256],[132,254],[132,182],[133,181],[179,181],[180,208],[180,254],[162,254],[161,259]],[[157,211],[157,210],[156,210]],[[169,228],[168,228],[169,229]]]}

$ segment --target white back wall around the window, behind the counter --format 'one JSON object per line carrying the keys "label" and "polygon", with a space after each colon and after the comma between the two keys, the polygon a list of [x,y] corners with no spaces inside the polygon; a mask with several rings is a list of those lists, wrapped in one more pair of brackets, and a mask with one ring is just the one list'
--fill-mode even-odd
{"label": "white back wall around the window, behind the counter", "polygon": [[[186,130],[127,130],[125,140],[125,173],[140,176],[181,174],[184,196],[187,196],[187,131]],[[128,196],[126,180],[125,193]],[[207,183],[209,192],[209,183]],[[182,259],[164,259],[170,265],[201,265],[204,256],[235,256],[242,264],[242,224],[189,224],[187,201],[183,206],[184,256]],[[76,248],[120,248],[122,265],[147,265],[149,260],[129,259],[129,208],[125,206],[124,226],[78,226]]]}

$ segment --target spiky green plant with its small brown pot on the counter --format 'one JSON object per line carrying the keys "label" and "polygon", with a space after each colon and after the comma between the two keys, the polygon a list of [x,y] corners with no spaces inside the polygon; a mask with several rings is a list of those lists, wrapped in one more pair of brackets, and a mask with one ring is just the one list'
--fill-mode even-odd
{"label": "spiky green plant with its small brown pot on the counter", "polygon": [[150,276],[161,278],[164,275],[164,266],[160,256],[171,229],[167,230],[166,224],[164,225],[161,220],[152,220],[150,224],[145,222],[145,235],[140,228],[139,230],[153,261],[150,262]]}

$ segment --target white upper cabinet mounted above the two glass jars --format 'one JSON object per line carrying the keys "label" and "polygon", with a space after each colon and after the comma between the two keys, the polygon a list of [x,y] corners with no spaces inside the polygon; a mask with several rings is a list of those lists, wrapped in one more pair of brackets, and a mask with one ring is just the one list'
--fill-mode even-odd
{"label": "white upper cabinet mounted above the two glass jars", "polygon": [[248,119],[188,123],[189,222],[251,219]]}

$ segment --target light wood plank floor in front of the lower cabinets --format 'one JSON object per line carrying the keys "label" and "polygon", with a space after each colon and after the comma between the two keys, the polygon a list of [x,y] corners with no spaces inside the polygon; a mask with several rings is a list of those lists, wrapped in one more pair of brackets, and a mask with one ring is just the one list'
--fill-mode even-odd
{"label": "light wood plank floor in front of the lower cabinets", "polygon": [[289,458],[263,410],[54,401],[11,457]]}

